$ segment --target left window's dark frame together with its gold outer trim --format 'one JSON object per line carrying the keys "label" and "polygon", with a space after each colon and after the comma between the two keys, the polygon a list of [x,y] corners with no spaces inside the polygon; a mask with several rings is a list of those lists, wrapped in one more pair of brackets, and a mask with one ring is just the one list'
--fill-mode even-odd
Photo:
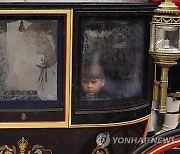
{"label": "left window's dark frame together with its gold outer trim", "polygon": [[[60,45],[62,45],[62,51],[59,52],[60,46],[59,43],[57,43],[58,47],[58,53],[57,53],[57,79],[62,80],[61,81],[61,87],[58,87],[57,93],[60,92],[61,96],[63,97],[60,99],[61,96],[58,96],[56,102],[56,106],[49,105],[43,106],[43,103],[41,103],[41,106],[38,108],[34,104],[32,107],[18,107],[18,101],[15,102],[13,105],[14,107],[9,107],[8,105],[5,105],[3,109],[0,109],[0,114],[2,117],[0,121],[0,127],[1,128],[59,128],[59,127],[68,127],[68,115],[69,115],[69,101],[70,101],[70,74],[71,74],[71,22],[72,22],[72,10],[71,9],[45,9],[45,10],[0,10],[0,18],[3,18],[3,20],[9,20],[9,19],[34,19],[38,18],[39,20],[42,20],[41,17],[44,20],[51,20],[51,18],[55,18],[58,22],[60,17],[62,17],[62,25],[63,25],[63,31],[58,33],[58,35],[61,34],[63,36]],[[62,30],[61,29],[61,30]],[[57,36],[59,37],[59,36]],[[59,38],[58,38],[59,41]],[[61,58],[60,56],[63,57]],[[64,58],[64,59],[63,59]],[[60,62],[60,59],[62,62]],[[62,66],[60,65],[62,64]],[[61,70],[60,70],[61,69]],[[60,71],[59,71],[60,70]],[[57,81],[58,82],[58,81]],[[60,84],[58,83],[57,86]],[[59,95],[59,94],[58,94]],[[60,107],[60,100],[62,100],[62,107]],[[5,101],[7,103],[10,103],[10,105],[13,103]],[[3,103],[5,103],[3,102]],[[45,101],[47,102],[47,101]],[[23,103],[23,101],[21,102]],[[48,101],[48,103],[51,103],[51,101]],[[17,104],[17,106],[16,106]]]}

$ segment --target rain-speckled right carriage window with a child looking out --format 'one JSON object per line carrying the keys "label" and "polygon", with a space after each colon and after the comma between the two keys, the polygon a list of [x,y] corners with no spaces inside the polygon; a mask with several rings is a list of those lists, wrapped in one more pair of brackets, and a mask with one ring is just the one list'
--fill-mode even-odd
{"label": "rain-speckled right carriage window with a child looking out", "polygon": [[144,98],[144,20],[81,18],[76,109],[103,110]]}

